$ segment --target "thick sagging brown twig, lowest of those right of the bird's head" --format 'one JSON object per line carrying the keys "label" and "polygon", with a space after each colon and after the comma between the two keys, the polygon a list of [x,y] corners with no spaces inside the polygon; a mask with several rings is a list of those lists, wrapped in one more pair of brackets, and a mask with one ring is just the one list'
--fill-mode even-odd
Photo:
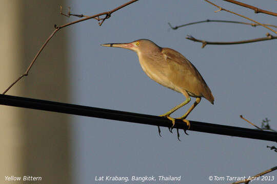
{"label": "thick sagging brown twig, lowest of those right of the bird's head", "polygon": [[251,43],[251,42],[257,42],[257,41],[265,41],[265,40],[271,40],[271,39],[277,39],[277,36],[272,36],[271,34],[267,33],[267,37],[262,37],[262,38],[255,38],[255,39],[250,39],[250,40],[242,40],[242,41],[230,41],[230,42],[219,42],[219,41],[206,41],[206,40],[200,40],[196,39],[191,35],[188,35],[186,39],[196,41],[196,42],[201,42],[202,43],[202,49],[207,45],[207,44],[220,44],[220,45],[226,45],[226,44],[243,44],[243,43]]}

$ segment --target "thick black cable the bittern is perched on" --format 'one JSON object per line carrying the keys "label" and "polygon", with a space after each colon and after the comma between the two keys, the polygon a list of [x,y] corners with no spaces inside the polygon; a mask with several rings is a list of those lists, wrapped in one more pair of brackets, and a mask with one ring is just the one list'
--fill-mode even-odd
{"label": "thick black cable the bittern is perched on", "polygon": [[[24,97],[15,97],[9,95],[0,95],[0,104],[163,127],[170,127],[172,125],[170,120],[158,116],[96,107],[88,107],[82,105],[73,105]],[[196,121],[190,121],[190,125],[191,126],[189,130],[191,131],[215,133],[221,135],[230,135],[277,142],[277,133],[270,131],[254,130],[249,128],[217,125]],[[176,120],[174,128],[187,129],[188,127],[186,123],[184,123],[183,121]]]}

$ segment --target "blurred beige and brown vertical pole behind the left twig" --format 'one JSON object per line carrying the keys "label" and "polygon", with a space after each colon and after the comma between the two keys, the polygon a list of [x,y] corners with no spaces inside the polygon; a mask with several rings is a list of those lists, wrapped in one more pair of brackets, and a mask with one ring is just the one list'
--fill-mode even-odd
{"label": "blurred beige and brown vertical pole behind the left twig", "polygon": [[[62,25],[65,1],[2,0],[0,11],[1,93],[23,74],[36,52]],[[67,11],[65,9],[65,11]],[[7,95],[68,102],[68,35],[58,32],[33,65],[29,76]],[[71,183],[69,116],[0,106],[0,182],[5,176],[40,176],[39,183]],[[8,182],[8,181],[6,181]],[[28,182],[28,181],[27,181]]]}

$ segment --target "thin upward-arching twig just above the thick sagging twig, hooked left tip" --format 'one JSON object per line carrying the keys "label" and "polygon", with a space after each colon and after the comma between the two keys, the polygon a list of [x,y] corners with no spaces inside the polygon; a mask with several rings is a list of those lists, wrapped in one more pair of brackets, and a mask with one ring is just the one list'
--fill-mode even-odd
{"label": "thin upward-arching twig just above the thick sagging twig, hooked left tip", "polygon": [[[182,27],[190,26],[190,25],[194,25],[194,24],[201,24],[201,23],[203,23],[203,22],[225,22],[225,23],[234,23],[234,24],[250,25],[250,26],[252,26],[252,27],[261,26],[261,25],[259,25],[259,24],[248,23],[248,22],[241,22],[241,21],[231,21],[231,20],[210,20],[210,19],[202,20],[202,21],[196,21],[196,22],[190,22],[190,23],[188,23],[188,24],[184,24],[184,25],[181,25],[181,26],[175,26],[175,27],[172,27],[171,24],[170,24],[169,22],[168,22],[168,25],[170,26],[171,29],[176,30],[176,29],[178,29],[178,28],[182,28]],[[277,28],[277,26],[275,26],[275,25],[269,25],[269,24],[263,24],[263,25]]]}

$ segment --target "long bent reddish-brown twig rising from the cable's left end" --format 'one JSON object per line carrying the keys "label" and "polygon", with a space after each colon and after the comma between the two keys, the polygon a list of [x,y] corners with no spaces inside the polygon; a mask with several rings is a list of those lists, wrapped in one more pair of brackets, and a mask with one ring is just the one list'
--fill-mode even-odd
{"label": "long bent reddish-brown twig rising from the cable's left end", "polygon": [[[35,55],[34,59],[33,59],[32,62],[30,63],[29,67],[27,68],[26,72],[25,72],[23,75],[21,75],[20,77],[18,77],[18,78],[17,78],[17,79],[16,79],[16,80],[15,80],[15,81],[7,88],[2,94],[3,94],[3,95],[6,94],[7,91],[8,91],[16,82],[18,82],[19,80],[21,80],[24,76],[27,76],[27,75],[28,75],[28,73],[29,73],[31,67],[33,66],[34,62],[36,61],[37,57],[39,56],[39,54],[41,54],[41,52],[43,51],[43,49],[45,48],[45,46],[47,45],[47,43],[49,42],[49,40],[54,36],[54,34],[55,34],[57,31],[60,31],[62,28],[65,28],[65,27],[67,27],[67,26],[70,26],[70,25],[73,25],[73,24],[76,24],[76,23],[78,23],[78,22],[85,21],[85,20],[88,20],[88,19],[91,19],[91,18],[95,18],[95,17],[97,17],[97,18],[95,18],[95,19],[97,19],[98,21],[100,21],[100,22],[98,22],[98,25],[101,26],[101,25],[103,24],[103,22],[104,22],[106,19],[110,18],[111,14],[112,14],[113,12],[115,12],[115,11],[117,11],[117,10],[120,10],[120,9],[122,9],[122,8],[124,8],[124,7],[126,7],[126,6],[128,6],[128,5],[130,5],[130,4],[132,4],[132,3],[134,3],[134,2],[136,2],[136,1],[138,1],[138,0],[129,1],[129,2],[127,2],[127,3],[125,3],[125,4],[123,4],[123,5],[119,6],[119,7],[117,7],[117,8],[115,8],[115,9],[111,10],[111,11],[103,12],[103,13],[98,13],[98,14],[92,15],[92,16],[88,16],[88,17],[83,18],[83,19],[80,19],[80,20],[76,20],[76,21],[69,22],[69,23],[67,23],[67,24],[65,24],[65,25],[62,25],[62,26],[56,26],[56,25],[54,25],[55,30],[54,30],[53,33],[47,38],[47,40],[45,41],[45,43],[42,45],[41,49],[39,49],[39,51],[38,51],[37,54]],[[70,10],[69,10],[69,13],[70,13]],[[106,16],[105,16],[104,18],[99,18],[99,17],[102,16],[102,15],[106,15]],[[65,14],[65,16],[67,16],[67,15]]]}

